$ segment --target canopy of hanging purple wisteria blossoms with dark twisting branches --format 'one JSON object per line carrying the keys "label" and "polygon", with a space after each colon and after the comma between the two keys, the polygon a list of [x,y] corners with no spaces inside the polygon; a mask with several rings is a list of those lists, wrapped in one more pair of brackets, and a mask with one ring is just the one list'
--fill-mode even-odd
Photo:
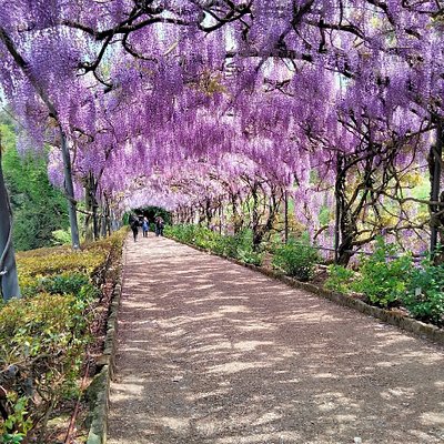
{"label": "canopy of hanging purple wisteria blossoms with dark twisting branches", "polygon": [[346,264],[382,229],[417,249],[444,240],[443,30],[441,0],[2,0],[0,85],[20,149],[54,147],[74,248],[83,198],[91,218],[157,204],[186,219],[290,194]]}

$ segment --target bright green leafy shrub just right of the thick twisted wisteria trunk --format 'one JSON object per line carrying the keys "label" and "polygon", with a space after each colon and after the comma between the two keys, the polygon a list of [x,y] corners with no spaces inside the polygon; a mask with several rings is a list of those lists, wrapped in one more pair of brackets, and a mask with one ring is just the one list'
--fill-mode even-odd
{"label": "bright green leafy shrub just right of the thick twisted wisteria trunk", "polygon": [[360,279],[353,289],[363,293],[379,306],[387,307],[400,303],[413,271],[412,256],[395,258],[394,244],[386,244],[382,236],[376,239],[376,249],[371,256],[362,259]]}

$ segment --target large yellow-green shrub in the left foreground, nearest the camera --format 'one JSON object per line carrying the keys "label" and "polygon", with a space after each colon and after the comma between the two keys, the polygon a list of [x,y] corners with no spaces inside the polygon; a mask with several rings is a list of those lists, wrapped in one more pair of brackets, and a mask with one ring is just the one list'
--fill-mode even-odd
{"label": "large yellow-green shrub in the left foreground, nearest the camera", "polygon": [[37,424],[44,426],[43,417],[72,392],[88,342],[85,329],[84,304],[72,295],[42,293],[3,305],[0,385],[8,393],[3,406],[9,415],[0,424],[3,441],[9,435],[20,437],[24,406],[30,431]]}

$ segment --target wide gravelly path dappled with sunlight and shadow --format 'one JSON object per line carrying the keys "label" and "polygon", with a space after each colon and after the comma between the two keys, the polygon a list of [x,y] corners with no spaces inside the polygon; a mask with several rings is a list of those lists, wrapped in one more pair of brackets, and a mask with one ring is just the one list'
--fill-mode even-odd
{"label": "wide gravelly path dappled with sunlight and shadow", "polygon": [[167,239],[128,242],[109,444],[444,443],[444,351]]}

